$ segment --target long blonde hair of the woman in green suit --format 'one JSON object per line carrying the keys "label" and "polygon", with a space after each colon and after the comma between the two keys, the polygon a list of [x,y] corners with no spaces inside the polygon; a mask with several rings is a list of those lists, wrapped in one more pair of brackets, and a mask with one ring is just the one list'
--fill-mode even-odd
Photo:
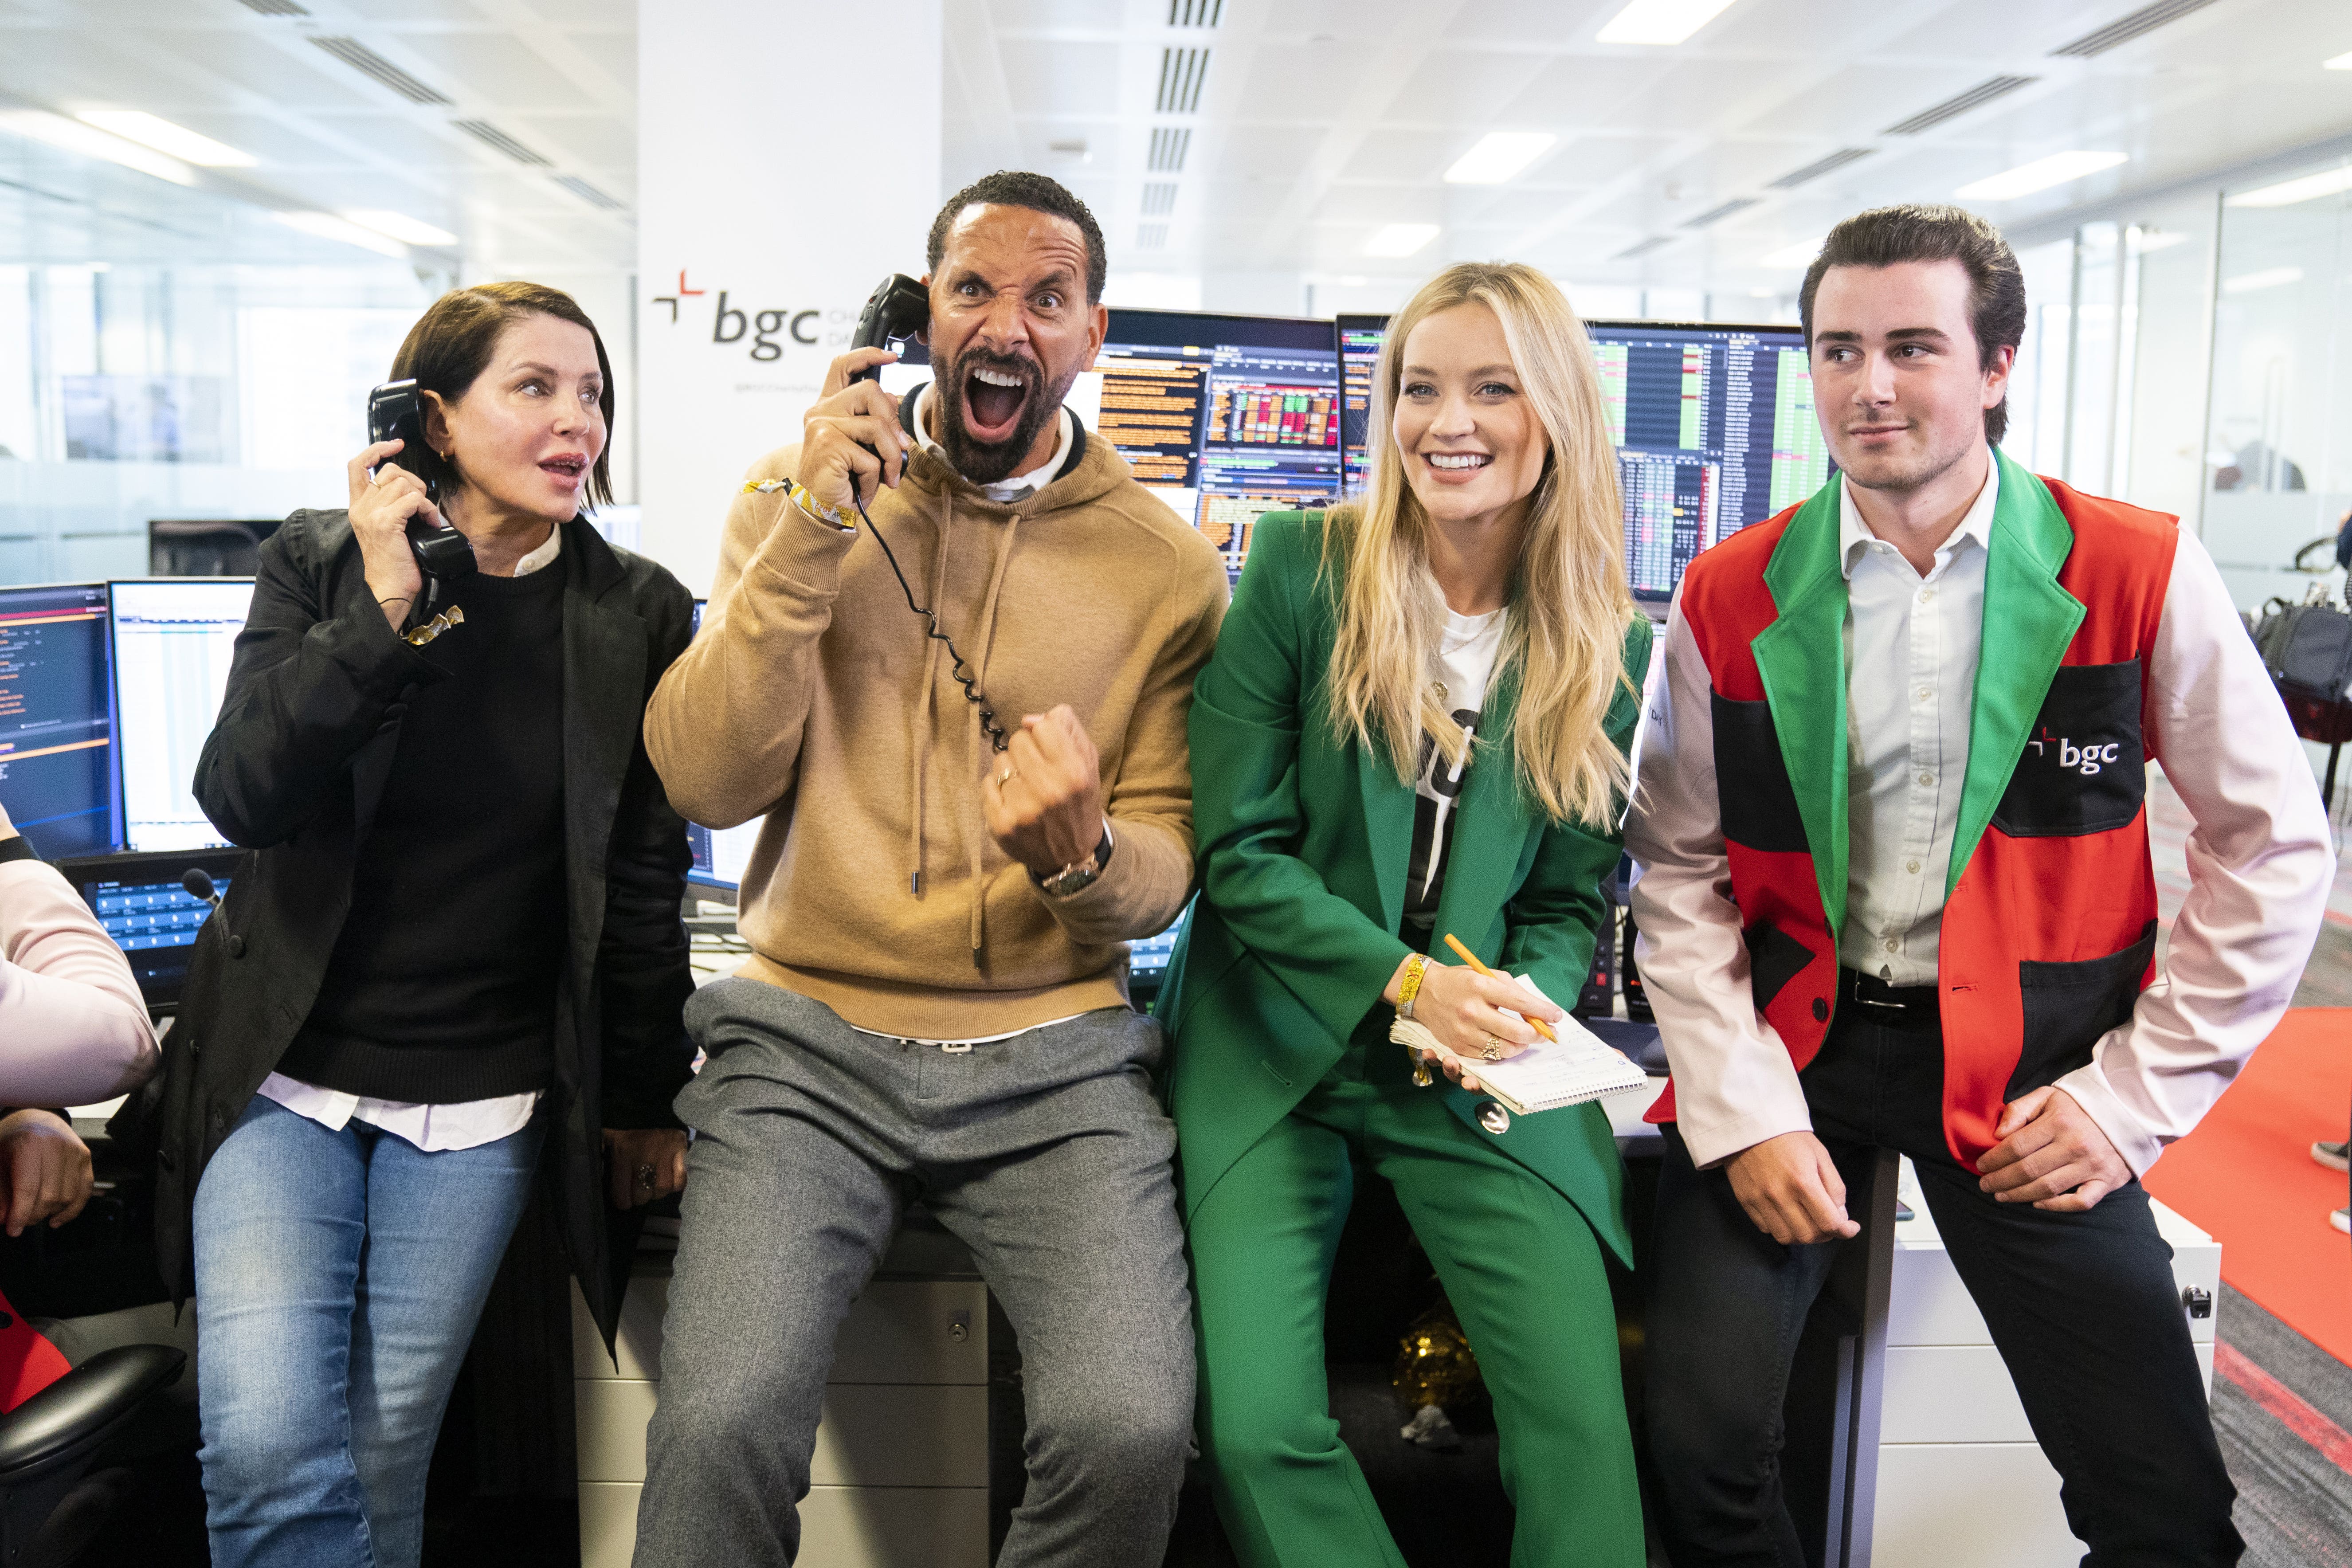
{"label": "long blonde hair of the woman in green suit", "polygon": [[1585,324],[1529,266],[1451,266],[1388,322],[1371,388],[1371,484],[1362,501],[1324,512],[1322,529],[1322,571],[1338,604],[1331,729],[1343,745],[1352,738],[1385,752],[1406,780],[1418,773],[1423,733],[1446,766],[1472,745],[1430,686],[1444,599],[1430,578],[1430,522],[1404,480],[1392,423],[1404,341],[1430,315],[1468,303],[1486,306],[1503,324],[1510,362],[1550,440],[1526,498],[1503,649],[1486,689],[1505,670],[1517,672],[1510,736],[1519,788],[1555,823],[1609,827],[1630,780],[1606,717],[1616,691],[1632,691],[1623,642],[1639,614],[1625,585],[1625,510]]}

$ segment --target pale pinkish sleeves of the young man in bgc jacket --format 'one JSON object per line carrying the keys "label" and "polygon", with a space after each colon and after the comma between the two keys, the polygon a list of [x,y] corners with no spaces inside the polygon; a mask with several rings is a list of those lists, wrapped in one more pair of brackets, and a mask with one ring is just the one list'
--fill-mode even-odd
{"label": "pale pinkish sleeves of the young man in bgc jacket", "polygon": [[[1809,1131],[1813,1119],[1788,1046],[1748,985],[1715,792],[1708,668],[1679,595],[1663,663],[1644,715],[1625,849],[1635,858],[1642,985],[1675,1067],[1682,1138],[1705,1168]],[[2336,872],[2303,745],[2220,571],[2190,534],[2173,548],[2145,682],[2147,755],[2197,823],[2190,893],[2164,973],[2140,992],[2131,1020],[2098,1041],[2089,1067],[2058,1079],[2133,1173],[2197,1126],[2277,1025]]]}

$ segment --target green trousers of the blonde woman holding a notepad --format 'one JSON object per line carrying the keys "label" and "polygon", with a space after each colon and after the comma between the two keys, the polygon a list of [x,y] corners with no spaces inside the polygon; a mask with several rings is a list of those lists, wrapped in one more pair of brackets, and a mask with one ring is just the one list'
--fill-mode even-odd
{"label": "green trousers of the blonde woman holding a notepad", "polygon": [[1362,1159],[1395,1185],[1494,1396],[1512,1568],[1639,1568],[1602,1246],[1388,1056],[1367,1081],[1350,1051],[1192,1215],[1200,1443],[1225,1535],[1247,1568],[1404,1568],[1324,1375],[1324,1298]]}

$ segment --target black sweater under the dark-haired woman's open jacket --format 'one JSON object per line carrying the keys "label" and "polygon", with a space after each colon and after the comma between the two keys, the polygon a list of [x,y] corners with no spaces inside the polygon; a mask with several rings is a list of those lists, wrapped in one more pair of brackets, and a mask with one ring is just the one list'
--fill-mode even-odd
{"label": "black sweater under the dark-haired woman's open jacket", "polygon": [[350,919],[278,1070],[358,1095],[546,1088],[564,959],[562,583],[473,576],[400,719]]}

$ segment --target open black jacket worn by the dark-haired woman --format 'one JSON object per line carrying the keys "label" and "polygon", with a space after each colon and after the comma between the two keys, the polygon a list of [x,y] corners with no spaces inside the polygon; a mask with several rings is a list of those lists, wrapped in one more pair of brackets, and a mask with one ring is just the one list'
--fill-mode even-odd
{"label": "open black jacket worn by the dark-haired woman", "polygon": [[[644,755],[644,701],[694,637],[694,597],[654,562],[564,524],[564,884],[555,1081],[541,1173],[572,1269],[607,1340],[637,1222],[604,1201],[600,1128],[677,1126],[694,992],[677,917],[687,830]],[[440,670],[383,621],[350,517],[294,512],[261,545],[195,799],[254,851],[205,922],[165,1037],[155,1248],[174,1300],[193,1288],[205,1164],[294,1041],[350,917],[353,863],[383,795],[400,715]],[[463,590],[454,595],[463,604]],[[456,632],[456,635],[463,635]],[[452,759],[461,766],[461,759]]]}

